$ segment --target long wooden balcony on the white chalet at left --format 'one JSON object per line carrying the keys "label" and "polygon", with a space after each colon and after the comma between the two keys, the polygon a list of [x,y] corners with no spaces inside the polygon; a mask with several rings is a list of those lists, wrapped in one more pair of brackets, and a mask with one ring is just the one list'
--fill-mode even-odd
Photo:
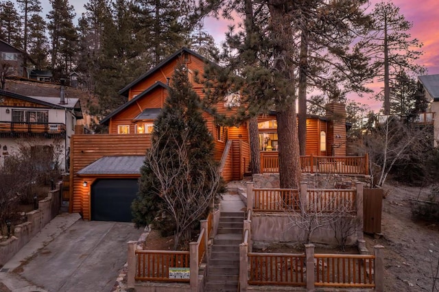
{"label": "long wooden balcony on the white chalet at left", "polygon": [[65,136],[66,125],[63,123],[24,123],[0,121],[1,137],[44,136],[52,138]]}

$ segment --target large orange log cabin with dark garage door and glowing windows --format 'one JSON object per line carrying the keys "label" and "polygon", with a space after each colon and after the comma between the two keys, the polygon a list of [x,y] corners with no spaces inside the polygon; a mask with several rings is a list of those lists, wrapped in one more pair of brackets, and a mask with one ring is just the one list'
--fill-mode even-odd
{"label": "large orange log cabin with dark garage door and glowing windows", "polygon": [[[131,221],[130,205],[139,189],[140,167],[150,147],[153,123],[163,108],[178,62],[184,62],[193,90],[203,95],[203,56],[182,48],[119,91],[128,101],[100,123],[108,134],[78,134],[71,140],[71,212],[85,220]],[[239,95],[224,97],[216,111],[234,114]],[[330,104],[326,117],[307,119],[307,155],[345,156],[346,121],[344,105]],[[336,116],[336,118],[335,118]],[[242,180],[250,165],[248,122],[228,127],[209,111],[203,112],[215,141],[215,160],[226,182]],[[268,112],[258,117],[261,156],[277,156],[276,116]],[[123,213],[123,214],[121,214]]]}

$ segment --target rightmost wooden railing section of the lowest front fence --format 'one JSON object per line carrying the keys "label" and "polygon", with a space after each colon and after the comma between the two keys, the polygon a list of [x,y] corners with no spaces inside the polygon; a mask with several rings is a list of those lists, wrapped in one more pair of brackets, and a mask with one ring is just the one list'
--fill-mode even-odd
{"label": "rightmost wooden railing section of the lowest front fence", "polygon": [[375,256],[360,254],[314,254],[315,285],[320,287],[375,287]]}

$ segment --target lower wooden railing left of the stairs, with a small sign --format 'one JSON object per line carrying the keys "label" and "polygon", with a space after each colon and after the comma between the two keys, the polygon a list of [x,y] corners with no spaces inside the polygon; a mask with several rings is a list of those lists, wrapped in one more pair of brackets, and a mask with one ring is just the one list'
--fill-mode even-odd
{"label": "lower wooden railing left of the stairs, with a small sign", "polygon": [[190,267],[189,252],[136,250],[135,280],[189,282],[189,279],[169,278],[169,268]]}

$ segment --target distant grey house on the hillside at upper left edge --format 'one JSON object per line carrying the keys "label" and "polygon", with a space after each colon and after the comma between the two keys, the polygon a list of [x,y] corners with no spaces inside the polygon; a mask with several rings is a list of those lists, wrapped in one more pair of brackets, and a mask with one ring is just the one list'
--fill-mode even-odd
{"label": "distant grey house on the hillside at upper left edge", "polygon": [[27,75],[23,51],[0,40],[0,73],[3,71],[8,76],[25,77]]}

